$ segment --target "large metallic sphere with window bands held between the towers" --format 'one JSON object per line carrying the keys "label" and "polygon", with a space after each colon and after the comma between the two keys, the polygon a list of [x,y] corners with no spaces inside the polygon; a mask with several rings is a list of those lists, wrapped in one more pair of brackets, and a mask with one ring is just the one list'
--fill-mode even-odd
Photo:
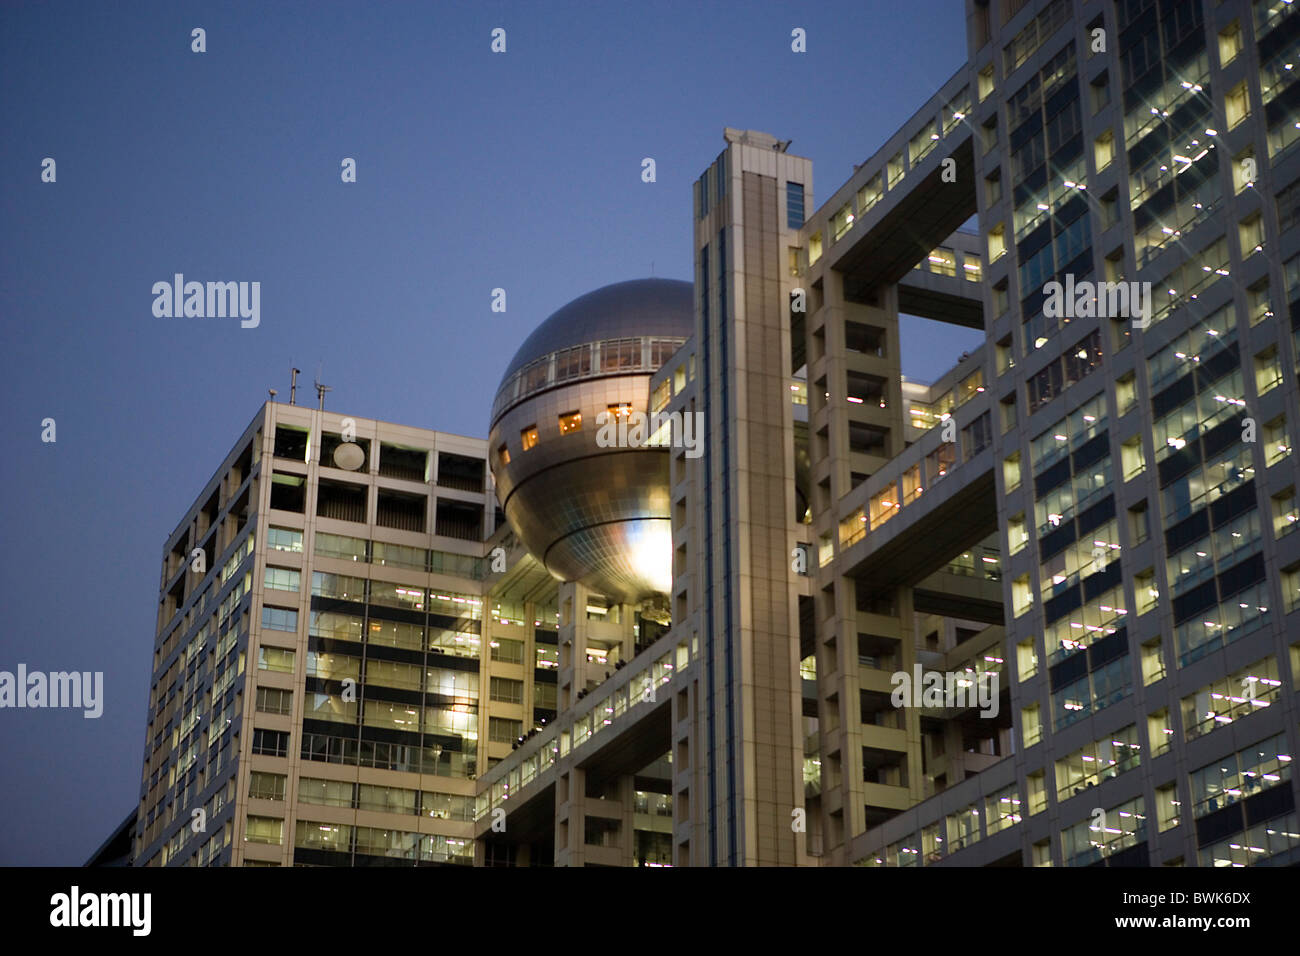
{"label": "large metallic sphere with window bands held between the towers", "polygon": [[647,411],[650,377],[694,332],[693,287],[642,278],[597,289],[537,326],[491,412],[506,520],[558,579],[637,602],[672,587],[668,449],[602,447],[606,418]]}

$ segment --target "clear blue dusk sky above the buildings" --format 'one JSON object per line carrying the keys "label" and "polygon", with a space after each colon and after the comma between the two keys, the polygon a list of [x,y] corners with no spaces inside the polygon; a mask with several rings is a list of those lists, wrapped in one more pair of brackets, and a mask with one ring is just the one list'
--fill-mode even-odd
{"label": "clear blue dusk sky above the buildings", "polygon": [[[965,51],[961,0],[0,7],[0,671],[104,675],[98,718],[0,709],[0,864],[79,865],[138,803],[164,540],[291,367],[486,436],[551,312],[692,277],[723,127],[793,140],[818,204]],[[260,282],[260,323],[156,317],[176,273]],[[978,341],[906,324],[904,373]]]}

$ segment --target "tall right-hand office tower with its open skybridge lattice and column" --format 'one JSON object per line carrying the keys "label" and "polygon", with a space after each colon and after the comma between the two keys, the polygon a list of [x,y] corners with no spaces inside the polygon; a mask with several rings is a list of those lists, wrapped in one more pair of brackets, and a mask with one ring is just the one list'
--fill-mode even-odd
{"label": "tall right-hand office tower with its open skybridge lattice and column", "polygon": [[[671,627],[480,779],[481,860],[640,862],[641,760],[676,865],[1300,856],[1300,17],[966,14],[819,207],[754,131],[696,183]],[[906,381],[901,315],[983,345]]]}

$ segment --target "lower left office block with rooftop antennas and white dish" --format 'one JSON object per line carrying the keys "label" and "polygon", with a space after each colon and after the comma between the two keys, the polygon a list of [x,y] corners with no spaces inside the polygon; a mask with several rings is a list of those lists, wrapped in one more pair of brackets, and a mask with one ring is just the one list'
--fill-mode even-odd
{"label": "lower left office block with rooftop antennas and white dish", "polygon": [[485,464],[263,406],[164,546],[134,865],[473,860],[481,704],[523,704],[485,670],[524,623],[485,597]]}

